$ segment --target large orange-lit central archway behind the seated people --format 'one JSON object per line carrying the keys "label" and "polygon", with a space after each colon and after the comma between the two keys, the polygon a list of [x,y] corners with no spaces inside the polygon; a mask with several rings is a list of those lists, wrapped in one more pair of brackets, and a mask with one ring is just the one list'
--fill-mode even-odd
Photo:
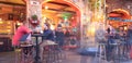
{"label": "large orange-lit central archway behind the seated people", "polygon": [[[43,1],[42,3],[42,18],[45,21],[45,18],[51,18],[53,21],[53,24],[55,24],[55,27],[57,27],[57,24],[64,20],[64,22],[69,22],[68,26],[67,24],[64,24],[68,28],[77,27],[77,32],[80,29],[80,10],[78,5],[76,5],[73,2],[69,2],[67,0],[50,0],[50,1]],[[43,25],[44,22],[42,22]],[[80,34],[80,32],[79,32]],[[80,37],[80,35],[78,36]]]}

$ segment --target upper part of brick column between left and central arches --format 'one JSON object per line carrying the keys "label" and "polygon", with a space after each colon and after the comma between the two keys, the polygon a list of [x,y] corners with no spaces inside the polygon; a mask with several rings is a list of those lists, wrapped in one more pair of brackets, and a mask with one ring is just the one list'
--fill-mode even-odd
{"label": "upper part of brick column between left and central arches", "polygon": [[[37,20],[42,21],[42,1],[43,0],[24,0],[26,3],[26,20],[29,21],[29,18],[32,15],[36,15]],[[40,25],[40,24],[38,24]],[[33,28],[30,24],[30,27]]]}

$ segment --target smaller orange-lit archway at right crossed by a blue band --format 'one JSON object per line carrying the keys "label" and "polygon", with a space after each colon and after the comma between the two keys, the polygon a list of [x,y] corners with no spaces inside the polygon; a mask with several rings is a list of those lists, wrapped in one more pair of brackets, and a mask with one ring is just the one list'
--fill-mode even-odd
{"label": "smaller orange-lit archway at right crossed by a blue band", "polygon": [[119,28],[124,25],[129,26],[131,24],[131,22],[128,21],[131,20],[131,15],[127,10],[116,9],[111,11],[108,16],[108,24],[114,28]]}

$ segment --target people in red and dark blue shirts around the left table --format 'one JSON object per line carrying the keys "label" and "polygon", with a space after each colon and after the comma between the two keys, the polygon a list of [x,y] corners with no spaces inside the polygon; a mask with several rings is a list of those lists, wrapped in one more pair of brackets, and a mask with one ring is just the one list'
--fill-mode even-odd
{"label": "people in red and dark blue shirts around the left table", "polygon": [[[65,43],[65,39],[68,39],[70,37],[70,32],[67,29],[65,33],[63,30],[62,26],[57,26],[55,30],[51,29],[51,25],[48,23],[44,23],[44,30],[43,34],[44,37],[42,38],[42,46],[40,45],[40,48],[43,48],[43,42],[44,40],[53,41],[58,43],[59,48],[63,48]],[[21,25],[18,27],[18,29],[14,33],[13,39],[12,39],[12,45],[14,47],[19,47],[21,45],[21,39],[24,38],[23,41],[29,42],[31,40],[28,40],[28,36],[25,37],[24,35],[26,34],[33,34],[33,30],[29,28],[28,23],[23,22]],[[23,37],[24,36],[24,37]]]}

